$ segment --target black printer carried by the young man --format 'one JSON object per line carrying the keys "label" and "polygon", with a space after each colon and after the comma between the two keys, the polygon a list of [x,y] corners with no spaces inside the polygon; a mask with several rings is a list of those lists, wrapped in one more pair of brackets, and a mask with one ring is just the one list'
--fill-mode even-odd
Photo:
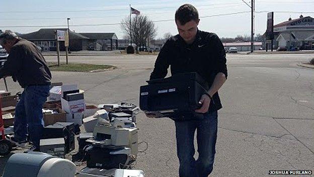
{"label": "black printer carried by the young man", "polygon": [[140,87],[139,106],[155,117],[185,120],[187,117],[202,119],[199,100],[207,92],[208,83],[197,73],[180,73],[165,79],[146,81]]}

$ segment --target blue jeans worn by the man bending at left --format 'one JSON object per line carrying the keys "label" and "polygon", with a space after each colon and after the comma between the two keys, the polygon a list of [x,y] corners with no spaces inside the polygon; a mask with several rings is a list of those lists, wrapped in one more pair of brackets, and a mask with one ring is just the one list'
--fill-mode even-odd
{"label": "blue jeans worn by the man bending at left", "polygon": [[42,108],[49,95],[50,85],[27,86],[15,108],[14,137],[18,141],[27,139],[39,148],[40,138],[44,129]]}

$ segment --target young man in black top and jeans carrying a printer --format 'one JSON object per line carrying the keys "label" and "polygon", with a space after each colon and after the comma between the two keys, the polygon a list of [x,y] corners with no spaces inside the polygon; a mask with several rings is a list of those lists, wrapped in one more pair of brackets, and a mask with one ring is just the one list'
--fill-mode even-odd
{"label": "young man in black top and jeans carrying a printer", "polygon": [[[201,108],[195,110],[204,113],[204,119],[175,122],[179,175],[203,177],[213,169],[217,110],[222,107],[217,91],[227,77],[225,50],[216,34],[198,30],[200,20],[192,5],[182,5],[176,11],[175,20],[179,34],[168,39],[163,46],[150,80],[165,78],[171,66],[172,75],[197,72],[208,82],[210,89],[200,99]],[[193,157],[195,130],[199,153],[197,160]]]}

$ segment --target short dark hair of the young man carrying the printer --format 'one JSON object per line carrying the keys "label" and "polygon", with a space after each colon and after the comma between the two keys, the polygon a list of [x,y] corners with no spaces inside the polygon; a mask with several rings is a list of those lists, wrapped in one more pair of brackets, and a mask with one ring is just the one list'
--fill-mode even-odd
{"label": "short dark hair of the young man carrying the printer", "polygon": [[176,11],[175,20],[179,21],[181,25],[185,25],[191,20],[198,21],[198,12],[196,8],[190,4],[185,4],[179,7]]}

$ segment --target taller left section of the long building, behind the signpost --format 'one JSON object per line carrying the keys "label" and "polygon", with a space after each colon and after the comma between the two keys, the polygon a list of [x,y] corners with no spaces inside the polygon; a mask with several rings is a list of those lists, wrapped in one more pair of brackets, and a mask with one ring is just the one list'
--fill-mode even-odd
{"label": "taller left section of the long building, behind the signpost", "polygon": [[[43,51],[56,51],[57,45],[54,32],[55,30],[66,31],[67,28],[65,29],[43,28],[36,32],[20,34],[19,37],[34,42],[37,46],[40,46]],[[70,38],[69,49],[71,51],[87,50],[87,44],[89,41],[88,37],[70,31],[69,38]],[[64,51],[65,50],[64,42],[60,41],[59,44],[60,50]]]}

